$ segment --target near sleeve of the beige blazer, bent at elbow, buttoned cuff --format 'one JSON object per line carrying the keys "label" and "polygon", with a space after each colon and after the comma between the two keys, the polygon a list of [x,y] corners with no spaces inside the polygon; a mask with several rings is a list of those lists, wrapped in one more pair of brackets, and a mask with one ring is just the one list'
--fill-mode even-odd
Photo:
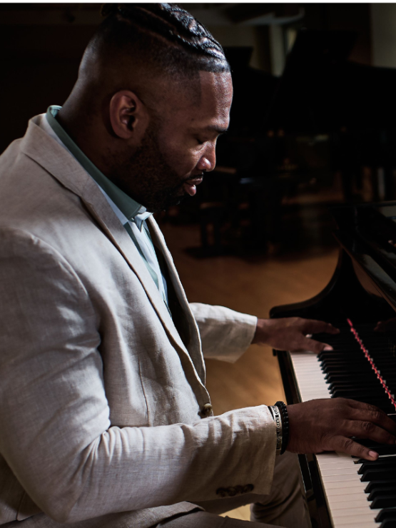
{"label": "near sleeve of the beige blazer, bent at elbow, buttoned cuff", "polygon": [[190,425],[112,426],[100,320],[71,265],[33,235],[0,229],[0,290],[0,452],[49,517],[212,500],[248,484],[269,492],[268,407]]}

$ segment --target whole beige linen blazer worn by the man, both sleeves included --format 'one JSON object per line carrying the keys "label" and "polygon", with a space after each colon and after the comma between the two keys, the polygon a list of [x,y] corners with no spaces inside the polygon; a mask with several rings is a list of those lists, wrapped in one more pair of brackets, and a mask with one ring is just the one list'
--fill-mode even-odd
{"label": "whole beige linen blazer worn by the man, both sleeves included", "polygon": [[268,493],[268,407],[203,412],[203,352],[235,360],[255,318],[188,305],[151,218],[171,318],[103,193],[42,118],[0,157],[0,524],[44,512],[147,528],[221,489]]}

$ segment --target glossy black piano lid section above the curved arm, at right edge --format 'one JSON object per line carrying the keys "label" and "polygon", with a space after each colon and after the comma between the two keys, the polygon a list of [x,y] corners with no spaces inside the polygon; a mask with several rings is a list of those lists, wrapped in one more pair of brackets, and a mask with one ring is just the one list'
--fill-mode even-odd
{"label": "glossy black piano lid section above the curved arm, at right edge", "polygon": [[335,238],[396,311],[396,202],[332,208]]}

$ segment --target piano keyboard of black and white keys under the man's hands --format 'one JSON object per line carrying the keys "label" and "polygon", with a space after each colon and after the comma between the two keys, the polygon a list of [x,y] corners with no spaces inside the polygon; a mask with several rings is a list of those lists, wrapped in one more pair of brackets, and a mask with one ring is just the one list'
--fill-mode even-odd
{"label": "piano keyboard of black and white keys under the man's hands", "polygon": [[[395,415],[396,362],[385,335],[373,332],[372,325],[351,325],[340,335],[315,339],[334,351],[290,353],[301,402],[349,397]],[[396,446],[362,443],[379,453],[377,461],[339,452],[315,455],[332,526],[396,528]]]}

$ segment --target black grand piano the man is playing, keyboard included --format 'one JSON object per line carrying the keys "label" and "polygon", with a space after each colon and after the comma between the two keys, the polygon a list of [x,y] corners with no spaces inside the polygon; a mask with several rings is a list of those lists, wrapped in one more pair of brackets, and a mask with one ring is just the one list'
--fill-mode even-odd
{"label": "black grand piano the man is playing, keyboard included", "polygon": [[[313,335],[334,348],[274,352],[288,404],[347,397],[396,417],[396,202],[332,208],[340,256],[330,283],[271,318],[325,320],[339,335]],[[382,331],[376,329],[382,321]],[[396,445],[358,440],[375,462],[338,452],[298,455],[313,527],[396,527]]]}

